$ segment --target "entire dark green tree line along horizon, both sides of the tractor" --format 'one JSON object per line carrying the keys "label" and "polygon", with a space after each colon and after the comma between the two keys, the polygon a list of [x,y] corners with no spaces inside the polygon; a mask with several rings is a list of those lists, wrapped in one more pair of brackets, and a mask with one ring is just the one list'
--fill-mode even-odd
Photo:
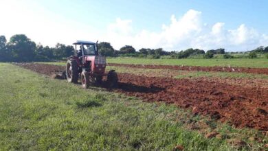
{"label": "entire dark green tree line along horizon, both sides of the tractor", "polygon": [[[215,54],[223,54],[223,58],[233,58],[230,53],[226,53],[225,49],[211,49],[204,51],[202,49],[186,49],[181,51],[165,51],[162,48],[149,49],[142,48],[136,51],[131,45],[116,50],[110,43],[98,43],[99,53],[102,56],[129,56],[140,58],[161,58],[168,56],[169,58],[190,58],[192,56],[201,56],[202,58],[213,58]],[[57,43],[55,47],[43,46],[34,43],[25,34],[16,34],[9,41],[5,36],[0,36],[0,61],[1,62],[28,62],[28,61],[49,61],[60,60],[74,54],[74,47]],[[249,53],[249,58],[256,58],[257,54],[268,53],[268,47],[258,47]],[[268,56],[268,55],[267,55]]]}

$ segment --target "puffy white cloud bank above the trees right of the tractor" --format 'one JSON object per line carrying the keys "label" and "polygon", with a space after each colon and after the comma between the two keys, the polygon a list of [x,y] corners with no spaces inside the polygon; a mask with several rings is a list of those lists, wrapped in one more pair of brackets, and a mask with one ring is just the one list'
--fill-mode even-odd
{"label": "puffy white cloud bank above the trees right of the tractor", "polygon": [[[260,34],[245,24],[226,30],[225,23],[203,23],[201,14],[196,10],[188,10],[181,18],[172,15],[170,25],[162,25],[161,32],[142,30],[136,34],[133,33],[131,20],[117,19],[116,23],[109,25],[108,34],[104,36],[107,38],[104,39],[111,42],[116,49],[123,45],[133,45],[136,49],[162,47],[168,51],[190,47],[205,50],[222,47],[227,51],[246,51],[268,45],[266,34]],[[120,29],[121,33],[118,32]]]}

